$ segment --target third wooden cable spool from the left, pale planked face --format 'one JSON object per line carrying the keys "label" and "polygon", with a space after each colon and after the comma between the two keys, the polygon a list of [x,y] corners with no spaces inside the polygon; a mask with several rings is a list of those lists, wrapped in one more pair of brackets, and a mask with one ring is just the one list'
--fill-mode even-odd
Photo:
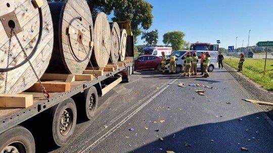
{"label": "third wooden cable spool from the left, pale planked face", "polygon": [[94,24],[94,65],[105,67],[111,51],[111,30],[105,13],[99,13]]}

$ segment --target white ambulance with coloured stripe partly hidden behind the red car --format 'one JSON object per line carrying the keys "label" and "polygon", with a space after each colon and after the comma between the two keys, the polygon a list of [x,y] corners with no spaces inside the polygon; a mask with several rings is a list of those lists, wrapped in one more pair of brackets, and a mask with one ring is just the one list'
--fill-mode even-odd
{"label": "white ambulance with coloured stripe partly hidden behind the red car", "polygon": [[155,56],[162,57],[162,54],[161,54],[162,51],[165,52],[166,56],[169,56],[172,54],[171,47],[146,47],[140,53],[140,56],[141,55],[155,55]]}

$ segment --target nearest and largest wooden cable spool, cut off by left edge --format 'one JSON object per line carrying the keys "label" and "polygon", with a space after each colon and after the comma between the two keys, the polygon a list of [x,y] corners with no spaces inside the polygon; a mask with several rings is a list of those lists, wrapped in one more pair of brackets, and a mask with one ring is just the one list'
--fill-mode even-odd
{"label": "nearest and largest wooden cable spool, cut off by left edge", "polygon": [[[18,94],[37,82],[21,48],[24,48],[38,78],[47,69],[53,49],[53,24],[46,0],[0,1],[0,93]],[[8,64],[9,40],[11,37]],[[6,84],[7,74],[7,84]]]}

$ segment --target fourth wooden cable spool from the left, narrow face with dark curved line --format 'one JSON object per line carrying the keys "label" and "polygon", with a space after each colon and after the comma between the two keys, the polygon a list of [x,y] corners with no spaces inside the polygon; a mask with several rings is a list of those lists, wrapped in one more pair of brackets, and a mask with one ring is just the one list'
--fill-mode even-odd
{"label": "fourth wooden cable spool from the left, narrow face with dark curved line", "polygon": [[111,24],[111,38],[112,38],[112,44],[111,44],[111,62],[114,64],[118,62],[119,55],[121,53],[121,47],[120,47],[120,29],[116,22],[113,22]]}

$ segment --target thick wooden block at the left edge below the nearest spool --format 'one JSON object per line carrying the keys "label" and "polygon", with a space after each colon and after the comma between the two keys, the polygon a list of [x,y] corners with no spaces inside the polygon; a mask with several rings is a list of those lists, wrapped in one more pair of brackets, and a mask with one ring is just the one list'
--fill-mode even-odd
{"label": "thick wooden block at the left edge below the nearest spool", "polygon": [[27,108],[33,105],[33,96],[25,94],[0,94],[0,107]]}

